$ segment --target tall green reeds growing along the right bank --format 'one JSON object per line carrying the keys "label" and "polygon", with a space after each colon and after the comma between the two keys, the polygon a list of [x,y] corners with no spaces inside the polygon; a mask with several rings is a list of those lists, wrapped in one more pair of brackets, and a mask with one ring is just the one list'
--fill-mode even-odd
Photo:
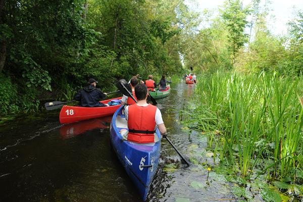
{"label": "tall green reeds growing along the right bank", "polygon": [[194,107],[183,120],[216,131],[208,133],[210,149],[242,176],[258,168],[275,179],[302,182],[302,80],[265,72],[199,75]]}

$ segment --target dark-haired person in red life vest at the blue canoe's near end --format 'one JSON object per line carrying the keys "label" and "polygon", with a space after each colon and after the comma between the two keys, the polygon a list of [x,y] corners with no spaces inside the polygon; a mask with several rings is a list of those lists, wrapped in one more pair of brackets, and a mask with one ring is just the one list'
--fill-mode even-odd
{"label": "dark-haired person in red life vest at the blue canoe's near end", "polygon": [[155,142],[156,125],[162,135],[166,134],[161,112],[157,107],[146,103],[148,91],[144,84],[140,83],[135,86],[135,94],[138,103],[127,106],[124,110],[129,131],[122,129],[120,132],[124,137],[127,136],[128,141],[137,143]]}

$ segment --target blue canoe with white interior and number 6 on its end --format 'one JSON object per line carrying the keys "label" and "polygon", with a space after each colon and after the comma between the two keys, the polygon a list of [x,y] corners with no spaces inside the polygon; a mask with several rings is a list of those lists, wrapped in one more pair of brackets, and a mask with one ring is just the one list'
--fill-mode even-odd
{"label": "blue canoe with white interior and number 6 on its end", "polygon": [[143,200],[146,200],[151,181],[156,174],[161,149],[160,131],[156,130],[155,143],[143,143],[127,141],[127,137],[120,134],[121,129],[127,129],[125,115],[121,106],[114,114],[111,122],[111,142],[114,150],[135,184]]}

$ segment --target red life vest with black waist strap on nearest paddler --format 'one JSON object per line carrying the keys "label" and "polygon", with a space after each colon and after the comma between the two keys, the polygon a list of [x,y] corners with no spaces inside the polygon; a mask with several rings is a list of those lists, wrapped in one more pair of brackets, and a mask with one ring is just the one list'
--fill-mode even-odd
{"label": "red life vest with black waist strap on nearest paddler", "polygon": [[154,133],[156,126],[157,107],[153,105],[128,107],[128,135],[127,140],[138,143],[155,142]]}

